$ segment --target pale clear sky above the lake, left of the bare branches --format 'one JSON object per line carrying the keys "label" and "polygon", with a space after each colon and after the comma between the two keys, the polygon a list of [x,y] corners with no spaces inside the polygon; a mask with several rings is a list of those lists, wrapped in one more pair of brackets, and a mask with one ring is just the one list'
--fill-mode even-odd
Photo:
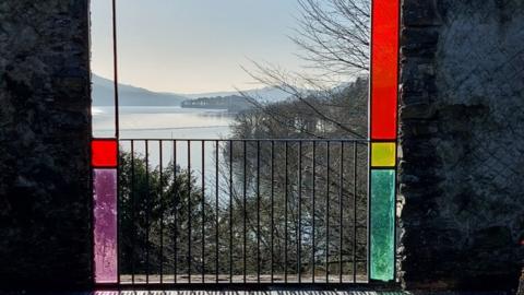
{"label": "pale clear sky above the lake, left of the bare branches", "polygon": [[[92,71],[112,76],[111,1],[92,0]],[[181,94],[261,86],[250,60],[301,71],[296,0],[118,0],[119,82]]]}

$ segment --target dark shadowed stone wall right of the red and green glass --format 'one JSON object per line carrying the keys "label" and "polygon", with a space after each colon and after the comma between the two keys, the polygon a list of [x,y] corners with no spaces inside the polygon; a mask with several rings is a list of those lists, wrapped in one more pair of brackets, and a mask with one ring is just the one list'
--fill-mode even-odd
{"label": "dark shadowed stone wall right of the red and green glass", "polygon": [[403,0],[401,276],[515,290],[524,252],[524,1]]}

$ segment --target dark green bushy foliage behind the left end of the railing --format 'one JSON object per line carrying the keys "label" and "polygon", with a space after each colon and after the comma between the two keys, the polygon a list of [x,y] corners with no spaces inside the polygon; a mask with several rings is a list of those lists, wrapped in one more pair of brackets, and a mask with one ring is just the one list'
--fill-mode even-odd
{"label": "dark green bushy foliage behind the left end of the railing", "polygon": [[201,250],[199,229],[211,221],[212,213],[194,173],[172,163],[162,170],[152,168],[140,154],[123,152],[119,181],[121,272],[159,273],[160,268],[172,272],[175,264],[181,271],[188,259],[198,268],[200,262],[189,249],[193,253]]}

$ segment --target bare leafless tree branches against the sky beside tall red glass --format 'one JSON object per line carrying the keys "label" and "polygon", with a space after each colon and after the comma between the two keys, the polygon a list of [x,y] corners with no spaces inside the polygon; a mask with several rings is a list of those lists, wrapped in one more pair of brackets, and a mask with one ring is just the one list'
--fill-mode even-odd
{"label": "bare leafless tree branches against the sky beside tall red glass", "polygon": [[[314,73],[289,72],[278,66],[258,61],[251,61],[253,68],[243,69],[257,82],[287,93],[300,106],[297,105],[291,111],[281,111],[281,108],[259,104],[263,97],[241,94],[287,128],[297,129],[293,121],[303,115],[318,119],[319,126],[333,126],[336,131],[333,133],[366,138],[365,128],[362,130],[361,126],[347,120],[349,113],[356,113],[357,105],[341,97],[352,93],[344,93],[347,81],[369,72],[370,0],[297,1],[300,14],[290,38],[302,49],[298,55]],[[361,96],[367,97],[367,92],[359,92],[358,96],[353,97],[354,101],[362,101]],[[349,105],[355,109],[348,109]],[[360,107],[358,111],[366,113]],[[362,114],[355,116],[361,117]],[[308,137],[326,135],[310,129],[298,131]]]}

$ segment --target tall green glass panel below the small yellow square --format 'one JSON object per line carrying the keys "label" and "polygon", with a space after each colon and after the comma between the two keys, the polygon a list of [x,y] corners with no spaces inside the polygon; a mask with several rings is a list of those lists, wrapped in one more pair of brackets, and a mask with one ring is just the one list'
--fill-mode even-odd
{"label": "tall green glass panel below the small yellow square", "polygon": [[395,170],[371,170],[371,280],[394,279]]}

